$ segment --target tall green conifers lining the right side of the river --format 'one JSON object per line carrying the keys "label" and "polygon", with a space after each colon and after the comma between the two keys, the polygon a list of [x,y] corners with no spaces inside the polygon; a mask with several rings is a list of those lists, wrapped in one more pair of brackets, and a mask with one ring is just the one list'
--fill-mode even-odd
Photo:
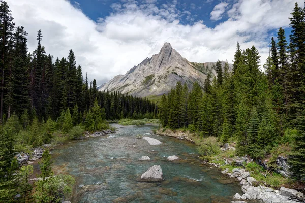
{"label": "tall green conifers lining the right side of the river", "polygon": [[237,43],[232,70],[228,62],[222,68],[218,61],[217,77],[208,74],[203,88],[195,83],[188,91],[177,83],[162,96],[162,125],[215,136],[222,143],[236,141],[237,154],[254,159],[291,144],[292,170],[298,178],[304,177],[305,11],[296,3],[291,14],[290,43],[280,28],[277,40],[271,40],[264,71],[257,49],[241,50]]}

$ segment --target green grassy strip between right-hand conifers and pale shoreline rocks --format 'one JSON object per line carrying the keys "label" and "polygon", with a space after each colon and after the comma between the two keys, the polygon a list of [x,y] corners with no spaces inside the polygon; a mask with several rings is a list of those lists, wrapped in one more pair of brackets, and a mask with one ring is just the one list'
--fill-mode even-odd
{"label": "green grassy strip between right-hand conifers and pale shoreline rocks", "polygon": [[[265,185],[279,189],[281,186],[294,188],[297,190],[304,190],[302,182],[295,181],[292,178],[284,177],[283,175],[276,173],[277,164],[276,159],[278,156],[287,156],[291,147],[289,145],[281,145],[273,149],[273,153],[265,157],[261,162],[265,163],[268,168],[264,168],[259,165],[253,159],[246,158],[245,161],[241,161],[242,157],[238,157],[235,150],[235,142],[232,140],[229,142],[229,150],[222,148],[221,142],[216,137],[200,137],[196,133],[191,133],[186,129],[171,130],[168,128],[160,128],[156,131],[156,134],[161,136],[176,137],[179,139],[188,140],[197,145],[200,159],[207,163],[220,167],[222,170],[228,168],[229,172],[232,172],[233,168],[245,168],[249,171],[251,177],[257,180],[258,185]],[[236,162],[239,162],[237,164]]]}

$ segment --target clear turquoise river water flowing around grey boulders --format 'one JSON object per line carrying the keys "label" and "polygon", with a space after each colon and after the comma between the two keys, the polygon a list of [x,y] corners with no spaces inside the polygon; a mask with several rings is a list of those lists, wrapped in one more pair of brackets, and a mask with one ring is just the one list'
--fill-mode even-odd
{"label": "clear turquoise river water flowing around grey boulders", "polygon": [[[52,150],[54,171],[76,178],[71,202],[231,202],[242,193],[236,180],[201,163],[194,144],[156,136],[153,125],[113,125],[114,134],[69,141]],[[150,160],[139,160],[147,159],[142,156]],[[154,165],[161,166],[162,180],[141,181]]]}

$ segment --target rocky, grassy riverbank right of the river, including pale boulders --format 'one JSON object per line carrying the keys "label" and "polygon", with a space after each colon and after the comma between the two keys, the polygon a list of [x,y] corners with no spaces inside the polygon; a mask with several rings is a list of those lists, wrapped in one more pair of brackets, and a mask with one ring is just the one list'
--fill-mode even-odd
{"label": "rocky, grassy riverbank right of the river, including pale boulders", "polygon": [[[203,139],[198,138],[196,134],[189,131],[160,128],[156,131],[156,134],[187,140],[198,145],[199,150],[205,144]],[[208,139],[210,138],[206,138],[206,140]],[[212,149],[217,151],[217,155],[205,156],[203,163],[221,168],[223,174],[227,174],[229,177],[235,178],[240,182],[244,194],[236,194],[234,196],[236,200],[262,200],[267,203],[305,202],[303,191],[298,192],[291,188],[291,184],[289,184],[291,180],[289,178],[281,175],[271,175],[267,170],[263,170],[261,166],[253,162],[253,160],[249,160],[248,157],[238,157],[235,153],[234,145],[234,143],[230,144],[227,150],[220,146],[218,146],[219,149]],[[281,166],[287,165],[287,163],[279,164]],[[283,172],[287,174],[287,167]]]}

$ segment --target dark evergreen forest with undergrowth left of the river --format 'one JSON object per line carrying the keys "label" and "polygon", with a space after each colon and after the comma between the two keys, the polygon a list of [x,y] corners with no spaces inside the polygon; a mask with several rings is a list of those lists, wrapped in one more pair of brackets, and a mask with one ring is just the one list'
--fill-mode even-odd
{"label": "dark evergreen forest with undergrowth left of the river", "polygon": [[61,59],[46,53],[41,30],[37,48],[29,53],[27,32],[15,25],[5,1],[0,3],[0,35],[0,202],[61,202],[74,180],[45,178],[53,174],[49,150],[35,189],[28,182],[33,166],[19,168],[16,153],[109,129],[106,120],[156,118],[157,106],[128,93],[98,91],[95,79],[90,84],[87,75],[83,79],[72,49]]}

